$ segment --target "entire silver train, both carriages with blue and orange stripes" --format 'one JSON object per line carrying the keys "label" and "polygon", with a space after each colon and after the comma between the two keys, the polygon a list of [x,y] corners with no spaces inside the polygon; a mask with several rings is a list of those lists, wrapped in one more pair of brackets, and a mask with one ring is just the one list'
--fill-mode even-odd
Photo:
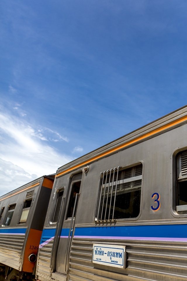
{"label": "entire silver train, both carriages with blue and orange stripes", "polygon": [[187,280],[187,106],[0,204],[0,281]]}

